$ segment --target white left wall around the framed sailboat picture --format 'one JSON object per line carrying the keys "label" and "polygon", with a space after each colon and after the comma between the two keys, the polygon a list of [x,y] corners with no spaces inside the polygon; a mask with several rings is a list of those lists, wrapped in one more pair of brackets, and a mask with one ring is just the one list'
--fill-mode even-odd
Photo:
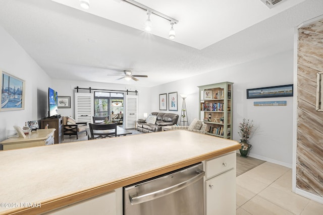
{"label": "white left wall around the framed sailboat picture", "polygon": [[[47,94],[51,81],[26,51],[0,27],[0,69],[25,81],[25,109],[0,112],[0,141],[15,134],[13,125],[24,126],[26,121],[39,120],[42,104],[38,95]],[[45,102],[43,105],[47,105]],[[46,108],[45,108],[46,109]]]}

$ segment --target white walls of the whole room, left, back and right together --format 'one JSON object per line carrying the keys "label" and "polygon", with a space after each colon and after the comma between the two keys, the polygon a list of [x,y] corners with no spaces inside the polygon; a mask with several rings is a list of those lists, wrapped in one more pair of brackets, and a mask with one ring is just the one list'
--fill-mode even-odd
{"label": "white walls of the whole room, left, back and right together", "polygon": [[[164,111],[180,114],[182,98],[187,94],[187,115],[189,122],[198,118],[198,88],[200,85],[218,82],[233,82],[233,139],[239,140],[238,123],[243,118],[254,120],[254,135],[250,138],[253,145],[251,157],[291,167],[292,164],[292,97],[246,99],[246,89],[285,85],[293,83],[293,52],[288,51],[275,56],[254,60],[233,67],[211,71],[196,77],[160,85],[153,88],[140,88],[127,85],[53,80],[35,63],[35,61],[0,27],[0,68],[26,82],[25,109],[0,112],[0,141],[15,133],[13,125],[23,126],[25,121],[39,120],[46,113],[47,100],[39,100],[39,95],[46,96],[48,87],[59,92],[60,96],[71,96],[71,108],[60,108],[61,115],[74,115],[73,89],[99,88],[111,90],[137,90],[139,92],[139,118],[144,112],[159,111],[159,94],[178,92],[178,110]],[[37,78],[36,78],[37,77]],[[255,107],[253,101],[286,100],[287,106]]]}

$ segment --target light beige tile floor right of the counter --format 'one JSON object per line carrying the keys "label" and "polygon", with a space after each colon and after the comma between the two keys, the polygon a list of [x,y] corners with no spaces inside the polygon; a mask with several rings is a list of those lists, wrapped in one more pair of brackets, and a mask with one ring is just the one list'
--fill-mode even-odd
{"label": "light beige tile floor right of the counter", "polygon": [[237,177],[237,215],[323,214],[323,204],[292,192],[292,170],[265,162]]}

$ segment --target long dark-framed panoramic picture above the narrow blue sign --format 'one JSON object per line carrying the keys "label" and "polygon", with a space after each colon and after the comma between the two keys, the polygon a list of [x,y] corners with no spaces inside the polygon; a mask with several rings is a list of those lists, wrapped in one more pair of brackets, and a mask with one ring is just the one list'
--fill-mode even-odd
{"label": "long dark-framed panoramic picture above the narrow blue sign", "polygon": [[247,89],[247,99],[293,96],[293,85]]}

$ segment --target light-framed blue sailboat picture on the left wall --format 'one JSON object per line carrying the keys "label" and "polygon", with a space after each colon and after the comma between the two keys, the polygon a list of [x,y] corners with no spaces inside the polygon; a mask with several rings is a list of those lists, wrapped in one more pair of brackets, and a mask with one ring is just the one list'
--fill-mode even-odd
{"label": "light-framed blue sailboat picture on the left wall", "polygon": [[25,81],[0,70],[0,111],[25,109]]}

